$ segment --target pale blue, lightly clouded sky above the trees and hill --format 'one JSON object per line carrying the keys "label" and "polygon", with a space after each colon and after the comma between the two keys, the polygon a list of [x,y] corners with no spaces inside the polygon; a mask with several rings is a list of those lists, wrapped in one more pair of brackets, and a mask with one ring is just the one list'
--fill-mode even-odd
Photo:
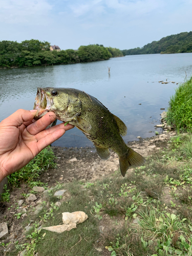
{"label": "pale blue, lightly clouded sky above the trees and hill", "polygon": [[0,41],[143,47],[192,30],[192,0],[0,0]]}

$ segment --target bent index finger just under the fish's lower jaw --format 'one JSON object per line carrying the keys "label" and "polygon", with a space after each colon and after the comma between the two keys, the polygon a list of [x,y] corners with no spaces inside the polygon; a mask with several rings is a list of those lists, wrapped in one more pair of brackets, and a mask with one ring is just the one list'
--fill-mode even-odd
{"label": "bent index finger just under the fish's lower jaw", "polygon": [[56,119],[55,113],[49,112],[45,116],[38,119],[36,122],[27,126],[27,131],[31,135],[36,135],[40,133],[42,130],[45,130],[49,124],[55,121],[55,119]]}

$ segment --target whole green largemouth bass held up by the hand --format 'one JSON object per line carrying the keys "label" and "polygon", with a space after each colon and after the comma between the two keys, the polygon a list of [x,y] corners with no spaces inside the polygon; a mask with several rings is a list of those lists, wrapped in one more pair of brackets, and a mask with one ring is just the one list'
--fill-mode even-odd
{"label": "whole green largemouth bass held up by the hand", "polygon": [[128,147],[121,136],[127,127],[117,116],[93,96],[71,88],[37,88],[34,109],[36,119],[47,112],[56,118],[76,126],[91,140],[97,154],[103,160],[110,157],[111,148],[119,157],[121,174],[124,177],[130,166],[140,166],[145,159]]}

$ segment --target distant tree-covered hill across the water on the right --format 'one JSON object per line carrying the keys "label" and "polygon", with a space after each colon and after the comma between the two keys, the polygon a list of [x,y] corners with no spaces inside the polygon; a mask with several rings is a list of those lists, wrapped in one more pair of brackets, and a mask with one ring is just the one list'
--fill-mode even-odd
{"label": "distant tree-covered hill across the water on the right", "polygon": [[192,52],[192,31],[169,35],[142,48],[122,50],[123,55]]}

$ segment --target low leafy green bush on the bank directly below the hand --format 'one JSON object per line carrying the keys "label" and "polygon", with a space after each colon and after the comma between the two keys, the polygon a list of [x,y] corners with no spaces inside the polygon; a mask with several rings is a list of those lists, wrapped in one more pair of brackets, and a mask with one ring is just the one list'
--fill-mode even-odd
{"label": "low leafy green bush on the bank directly below the hand", "polygon": [[50,146],[42,150],[25,167],[8,176],[9,184],[12,187],[18,187],[20,182],[27,182],[29,185],[36,185],[34,182],[39,174],[45,172],[48,168],[55,168],[55,155]]}

